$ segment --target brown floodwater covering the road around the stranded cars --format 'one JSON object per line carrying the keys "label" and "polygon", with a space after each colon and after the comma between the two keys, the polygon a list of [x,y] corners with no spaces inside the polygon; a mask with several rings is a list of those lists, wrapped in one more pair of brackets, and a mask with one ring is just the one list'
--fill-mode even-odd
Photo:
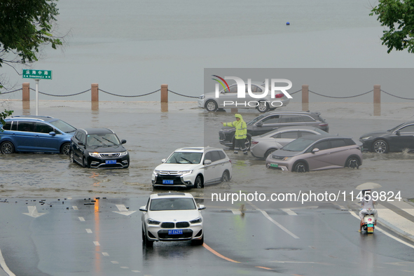
{"label": "brown floodwater covering the road around the stranded cars", "polygon": [[[10,101],[14,115],[34,114],[22,109],[22,102]],[[285,108],[287,109],[287,108]],[[289,110],[300,110],[291,104]],[[372,130],[387,130],[410,120],[410,104],[386,105],[382,116],[372,116],[372,104],[341,103],[310,104],[320,111],[329,123],[330,133],[353,137]],[[257,111],[239,109],[248,121]],[[91,108],[90,102],[53,102],[39,104],[39,114],[61,118],[75,127],[109,127],[126,139],[130,152],[130,167],[125,170],[86,169],[69,163],[67,156],[43,153],[15,153],[0,155],[0,198],[92,198],[94,196],[134,197],[153,191],[151,174],[172,151],[183,146],[217,146],[220,122],[234,120],[230,110],[207,113],[195,102],[172,102],[161,106],[158,102],[101,102]],[[414,198],[413,153],[364,153],[359,170],[349,168],[296,174],[265,168],[264,160],[251,155],[235,155],[225,149],[233,161],[233,179],[224,184],[208,186],[190,192],[198,196],[211,193],[291,193],[318,192],[348,195],[354,187],[372,181],[382,185],[381,191],[401,191],[402,198]],[[345,203],[344,203],[345,204]]]}

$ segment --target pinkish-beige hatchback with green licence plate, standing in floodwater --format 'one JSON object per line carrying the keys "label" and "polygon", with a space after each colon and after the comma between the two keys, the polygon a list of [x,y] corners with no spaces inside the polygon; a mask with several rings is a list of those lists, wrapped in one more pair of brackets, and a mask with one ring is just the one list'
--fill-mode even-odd
{"label": "pinkish-beige hatchback with green licence plate, standing in floodwater", "polygon": [[351,138],[324,134],[298,138],[266,158],[266,167],[292,172],[360,165],[361,148]]}

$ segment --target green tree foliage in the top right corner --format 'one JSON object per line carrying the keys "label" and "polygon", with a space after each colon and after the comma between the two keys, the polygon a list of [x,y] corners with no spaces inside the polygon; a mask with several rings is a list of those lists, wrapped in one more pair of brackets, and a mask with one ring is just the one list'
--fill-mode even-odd
{"label": "green tree foliage in the top right corner", "polygon": [[369,15],[378,15],[377,20],[384,30],[382,45],[388,47],[387,53],[408,49],[414,53],[414,0],[379,0]]}

